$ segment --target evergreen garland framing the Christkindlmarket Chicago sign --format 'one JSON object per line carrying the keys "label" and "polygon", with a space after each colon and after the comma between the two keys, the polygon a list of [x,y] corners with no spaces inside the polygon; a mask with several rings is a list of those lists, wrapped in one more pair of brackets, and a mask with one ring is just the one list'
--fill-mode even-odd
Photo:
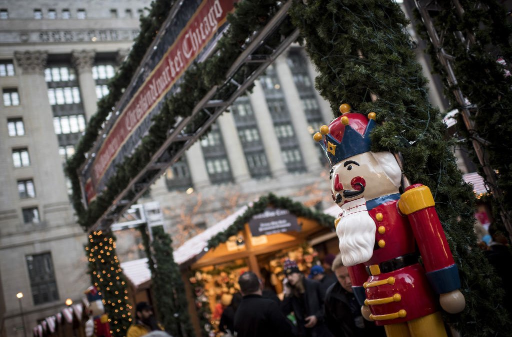
{"label": "evergreen garland framing the Christkindlmarket Chicago sign", "polygon": [[[151,40],[154,39],[159,25],[163,23],[173,3],[174,1],[170,0],[160,0],[152,3],[150,19],[141,21],[140,39],[137,39],[130,56],[121,65],[119,72],[111,82],[109,86],[110,94],[98,103],[98,113],[91,118],[86,133],[77,146],[75,155],[67,163],[66,172],[73,187],[73,206],[78,215],[78,223],[85,230],[92,226],[112,206],[115,197],[150,161],[151,156],[166,140],[168,132],[177,118],[190,116],[194,106],[205,96],[211,86],[224,83],[226,72],[244,50],[253,32],[265,26],[281,5],[281,2],[276,0],[244,0],[235,4],[236,10],[227,17],[230,24],[229,29],[219,40],[217,52],[202,63],[192,64],[183,74],[180,80],[179,92],[167,99],[160,114],[153,118],[153,124],[148,134],[141,140],[139,147],[134,150],[131,156],[125,158],[122,164],[117,166],[116,174],[106,183],[105,190],[98,194],[86,210],[82,204],[77,170],[87,160],[86,152],[93,147],[103,123],[112,113],[125,86],[130,83],[137,65],[142,60],[144,54],[142,51],[145,52]],[[282,37],[289,35],[293,30],[294,28],[289,20],[285,20],[280,29],[273,32],[266,43],[256,52],[260,55],[271,54],[273,52],[272,47],[278,46]],[[143,48],[144,46],[146,49]],[[242,82],[243,77],[251,74],[258,66],[257,63],[243,65],[238,72],[238,78],[235,77],[234,80]],[[236,89],[236,85],[228,83],[222,87],[220,93],[213,99],[225,100]],[[206,118],[206,114],[198,114],[194,121],[189,123],[185,132],[195,132],[201,127]],[[180,145],[177,145],[176,150],[178,150],[178,146]],[[170,153],[172,152],[170,151]]]}

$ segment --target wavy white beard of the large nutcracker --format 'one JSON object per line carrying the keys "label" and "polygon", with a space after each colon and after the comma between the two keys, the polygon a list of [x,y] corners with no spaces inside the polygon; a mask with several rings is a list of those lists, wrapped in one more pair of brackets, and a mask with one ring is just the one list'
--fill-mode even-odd
{"label": "wavy white beard of the large nutcracker", "polygon": [[358,211],[342,216],[336,226],[336,234],[345,266],[366,262],[372,257],[375,245],[375,222],[368,211]]}

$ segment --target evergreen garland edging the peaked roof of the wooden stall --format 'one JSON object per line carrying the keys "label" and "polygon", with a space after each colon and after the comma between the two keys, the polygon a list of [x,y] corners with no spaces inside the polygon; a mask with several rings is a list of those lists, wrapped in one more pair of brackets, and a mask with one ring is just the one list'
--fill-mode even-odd
{"label": "evergreen garland edging the peaked roof of the wooden stall", "polygon": [[208,249],[216,248],[219,244],[226,242],[229,237],[238,235],[244,229],[244,225],[257,214],[265,212],[267,207],[289,210],[290,213],[317,221],[321,226],[334,228],[334,217],[323,212],[314,211],[305,207],[302,203],[293,201],[287,197],[279,197],[275,194],[261,196],[258,201],[249,205],[247,210],[239,216],[225,231],[218,233],[208,240]]}

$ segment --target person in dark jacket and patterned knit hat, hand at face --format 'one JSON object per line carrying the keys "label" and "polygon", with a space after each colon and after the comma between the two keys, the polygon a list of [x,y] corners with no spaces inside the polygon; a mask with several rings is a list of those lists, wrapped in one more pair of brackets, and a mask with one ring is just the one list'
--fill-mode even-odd
{"label": "person in dark jacket and patterned knit hat, hand at face", "polygon": [[293,311],[298,336],[331,337],[324,323],[325,293],[321,284],[305,278],[294,261],[286,260],[284,271],[287,282],[281,310],[286,315]]}

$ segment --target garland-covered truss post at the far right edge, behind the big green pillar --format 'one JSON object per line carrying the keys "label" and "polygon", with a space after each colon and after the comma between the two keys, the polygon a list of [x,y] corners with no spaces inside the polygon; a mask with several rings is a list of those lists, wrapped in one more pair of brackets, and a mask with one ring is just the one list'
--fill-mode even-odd
{"label": "garland-covered truss post at the far right edge, behind the big green pillar", "polygon": [[[476,6],[474,1],[446,1],[436,4],[434,19],[416,1],[424,22],[417,27],[429,43],[435,71],[445,79],[452,109],[461,111],[458,129],[492,192],[495,221],[503,222],[512,236],[512,198],[506,197],[512,194],[512,76],[508,72],[512,25],[500,3],[481,0]],[[435,31],[459,34],[439,39],[432,36]]]}

